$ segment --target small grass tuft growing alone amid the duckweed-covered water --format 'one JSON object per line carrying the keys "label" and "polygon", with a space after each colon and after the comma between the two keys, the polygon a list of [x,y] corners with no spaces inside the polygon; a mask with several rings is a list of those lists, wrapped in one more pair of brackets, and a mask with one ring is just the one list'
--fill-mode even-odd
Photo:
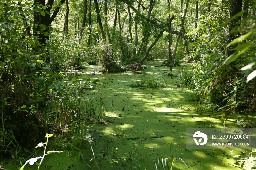
{"label": "small grass tuft growing alone amid the duckweed-covered water", "polygon": [[161,88],[165,87],[166,82],[159,77],[160,75],[151,76],[140,76],[139,80],[135,80],[135,86],[144,88]]}

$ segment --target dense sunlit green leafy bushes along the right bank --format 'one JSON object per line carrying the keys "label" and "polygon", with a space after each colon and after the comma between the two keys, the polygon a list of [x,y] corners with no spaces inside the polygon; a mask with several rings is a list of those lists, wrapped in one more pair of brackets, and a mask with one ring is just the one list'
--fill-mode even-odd
{"label": "dense sunlit green leafy bushes along the right bank", "polygon": [[[242,15],[244,11],[238,15]],[[243,27],[232,30],[237,35],[243,32],[242,36],[234,39],[229,45],[225,36],[225,22],[221,27],[214,24],[214,20],[223,23],[222,20],[212,18],[212,13],[201,18],[199,28],[189,33],[189,36],[196,39],[191,46],[194,51],[191,59],[193,60],[193,76],[191,85],[188,87],[195,93],[204,98],[202,104],[213,103],[219,106],[219,111],[225,111],[226,116],[233,113],[245,111],[253,108],[255,104],[253,92],[255,88],[252,82],[254,78],[253,67],[255,65],[255,17],[251,16],[244,23]],[[217,15],[219,15],[217,13]],[[208,20],[209,22],[206,22]],[[211,27],[211,29],[205,29]],[[223,28],[222,28],[223,27]],[[200,36],[199,36],[200,35]],[[232,47],[234,53],[226,57],[227,47]],[[200,59],[200,62],[199,62]],[[247,81],[245,80],[247,77]],[[186,76],[182,81],[186,81]],[[249,82],[249,83],[248,83]]]}

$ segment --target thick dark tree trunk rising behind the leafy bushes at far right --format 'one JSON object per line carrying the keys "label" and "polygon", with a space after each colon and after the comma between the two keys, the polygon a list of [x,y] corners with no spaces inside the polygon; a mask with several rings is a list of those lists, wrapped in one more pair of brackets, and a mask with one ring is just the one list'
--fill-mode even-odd
{"label": "thick dark tree trunk rising behind the leafy bushes at far right", "polygon": [[[230,18],[233,17],[234,15],[236,15],[237,13],[241,12],[242,10],[242,0],[231,0],[231,8],[230,8]],[[236,37],[234,36],[233,33],[231,33],[230,31],[236,27],[236,26],[240,26],[240,24],[237,24],[237,22],[241,20],[241,16],[237,17],[236,19],[233,19],[230,24],[229,24],[229,33],[228,33],[228,39],[229,39],[229,43],[234,40]],[[230,56],[231,54],[233,54],[235,51],[230,51],[231,49],[233,49],[234,47],[236,47],[236,44],[231,45],[228,49],[227,49],[227,56]]]}

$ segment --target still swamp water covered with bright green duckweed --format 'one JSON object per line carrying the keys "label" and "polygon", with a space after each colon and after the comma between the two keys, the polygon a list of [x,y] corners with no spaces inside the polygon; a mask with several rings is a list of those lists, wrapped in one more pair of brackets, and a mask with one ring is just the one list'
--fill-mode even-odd
{"label": "still swamp water covered with bright green duckweed", "polygon": [[[157,63],[148,62],[147,65]],[[81,77],[88,77],[93,68],[94,66],[88,66],[88,70],[84,70],[86,74]],[[174,67],[172,74],[177,76],[181,73],[181,68]],[[189,72],[192,71],[190,66],[187,66],[187,69]],[[108,124],[89,124],[88,131],[81,134],[87,139],[90,136],[95,159],[91,160],[93,153],[90,144],[78,148],[74,152],[73,160],[70,152],[63,148],[64,153],[47,155],[42,169],[96,170],[99,167],[107,170],[153,170],[156,169],[155,164],[161,167],[159,169],[163,169],[160,166],[162,158],[167,158],[165,165],[168,164],[170,169],[172,158],[177,157],[190,166],[191,170],[239,169],[229,165],[228,163],[233,160],[227,159],[224,155],[241,155],[242,151],[244,156],[249,157],[250,150],[185,149],[186,128],[223,128],[222,120],[211,117],[216,116],[215,113],[197,111],[198,106],[191,97],[191,92],[174,85],[178,77],[171,78],[162,74],[170,72],[169,67],[151,67],[143,72],[146,76],[159,75],[159,78],[165,80],[166,86],[154,89],[136,87],[135,81],[139,80],[141,75],[129,71],[95,72],[92,78],[99,79],[100,85],[93,90],[86,90],[86,95],[96,100],[101,97],[108,108],[106,117],[101,118],[112,121]],[[234,119],[229,119],[226,125],[237,127]],[[50,142],[48,150],[53,149]],[[42,152],[38,151],[37,156],[40,153]],[[176,160],[175,169],[185,169],[180,159]],[[36,167],[26,165],[25,169],[37,169]],[[8,165],[4,169],[16,168]]]}

